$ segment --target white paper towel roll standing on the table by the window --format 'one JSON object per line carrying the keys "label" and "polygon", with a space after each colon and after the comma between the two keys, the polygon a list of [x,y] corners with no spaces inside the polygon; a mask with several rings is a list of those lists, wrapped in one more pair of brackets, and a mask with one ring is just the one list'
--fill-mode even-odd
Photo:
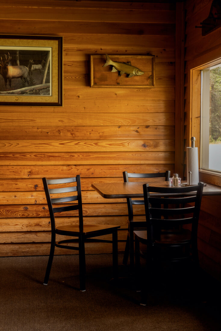
{"label": "white paper towel roll standing on the table by the window", "polygon": [[[191,174],[191,183],[189,177]],[[187,147],[187,184],[197,185],[199,182],[199,167],[198,167],[198,148]]]}

